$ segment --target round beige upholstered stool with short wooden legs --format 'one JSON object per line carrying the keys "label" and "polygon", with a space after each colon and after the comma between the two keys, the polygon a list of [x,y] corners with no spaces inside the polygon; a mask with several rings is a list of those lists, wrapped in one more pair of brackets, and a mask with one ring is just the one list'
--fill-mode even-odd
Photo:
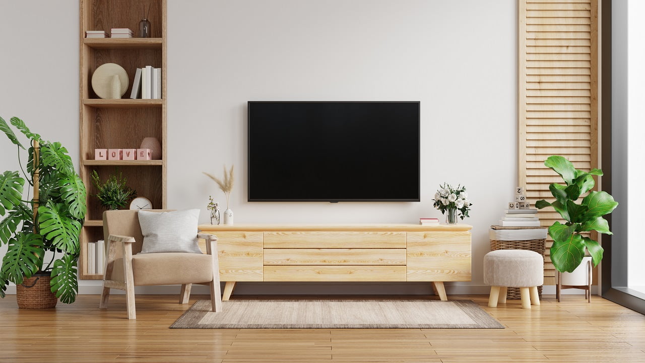
{"label": "round beige upholstered stool with short wooden legs", "polygon": [[544,284],[544,258],[523,249],[491,251],[484,256],[484,284],[491,285],[490,307],[506,302],[506,287],[520,288],[522,309],[540,305],[537,287]]}

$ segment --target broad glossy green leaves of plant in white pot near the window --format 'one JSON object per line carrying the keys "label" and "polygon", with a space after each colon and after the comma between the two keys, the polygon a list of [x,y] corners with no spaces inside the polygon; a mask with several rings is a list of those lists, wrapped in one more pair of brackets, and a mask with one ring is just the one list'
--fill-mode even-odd
{"label": "broad glossy green leaves of plant in white pot near the window", "polygon": [[[593,176],[601,176],[600,169],[581,171],[562,156],[550,156],[544,161],[546,167],[560,174],[564,185],[552,183],[549,186],[555,201],[538,200],[535,207],[553,207],[566,223],[555,222],[549,227],[553,238],[551,262],[560,272],[572,272],[581,264],[585,250],[589,251],[593,265],[602,260],[603,249],[600,244],[584,234],[590,231],[611,234],[609,223],[602,216],[611,213],[618,205],[607,192],[591,191],[595,182]],[[575,203],[582,194],[589,192],[581,203]]]}

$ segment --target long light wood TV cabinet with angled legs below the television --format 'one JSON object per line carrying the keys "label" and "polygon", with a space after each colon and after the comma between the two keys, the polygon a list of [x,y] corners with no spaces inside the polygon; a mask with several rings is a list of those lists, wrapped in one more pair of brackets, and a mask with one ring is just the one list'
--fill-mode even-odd
{"label": "long light wood TV cabinet with angled legs below the television", "polygon": [[224,300],[236,282],[471,280],[466,224],[200,225],[215,234]]}

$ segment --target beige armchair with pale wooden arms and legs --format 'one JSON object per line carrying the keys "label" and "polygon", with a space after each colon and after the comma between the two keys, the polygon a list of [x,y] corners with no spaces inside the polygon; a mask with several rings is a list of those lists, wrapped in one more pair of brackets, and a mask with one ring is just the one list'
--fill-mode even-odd
{"label": "beige armchair with pale wooden arms and legs", "polygon": [[[157,212],[157,210],[154,210]],[[158,212],[163,212],[158,210]],[[210,285],[213,311],[222,310],[219,287],[217,238],[199,233],[206,240],[206,254],[141,252],[143,235],[137,211],[106,211],[103,213],[106,262],[103,275],[101,309],[108,307],[110,289],[126,291],[128,319],[136,318],[134,287],[139,285],[179,285],[179,303],[186,304],[192,284]]]}

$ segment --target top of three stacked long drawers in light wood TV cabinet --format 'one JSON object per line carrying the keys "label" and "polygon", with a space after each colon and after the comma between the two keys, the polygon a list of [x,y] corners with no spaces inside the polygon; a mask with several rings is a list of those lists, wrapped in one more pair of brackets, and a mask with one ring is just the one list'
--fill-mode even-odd
{"label": "top of three stacked long drawers in light wood TV cabinet", "polygon": [[405,248],[405,232],[264,232],[264,248]]}

